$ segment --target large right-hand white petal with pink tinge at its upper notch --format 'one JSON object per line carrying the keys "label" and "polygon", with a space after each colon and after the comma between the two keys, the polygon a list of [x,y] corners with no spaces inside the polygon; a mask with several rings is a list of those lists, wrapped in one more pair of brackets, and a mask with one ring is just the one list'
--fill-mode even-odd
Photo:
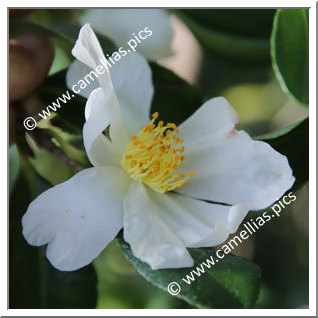
{"label": "large right-hand white petal with pink tinge at its upper notch", "polygon": [[295,178],[285,156],[269,144],[237,132],[235,112],[225,99],[212,99],[180,126],[185,161],[180,172],[195,171],[180,192],[198,199],[266,208]]}

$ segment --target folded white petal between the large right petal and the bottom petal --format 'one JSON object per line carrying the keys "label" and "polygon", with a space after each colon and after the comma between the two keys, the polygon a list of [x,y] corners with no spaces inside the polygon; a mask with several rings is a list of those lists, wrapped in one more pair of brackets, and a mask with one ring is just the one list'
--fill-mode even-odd
{"label": "folded white petal between the large right petal and the bottom petal", "polygon": [[150,192],[160,218],[187,247],[209,247],[235,233],[248,213],[245,205],[207,203],[176,193]]}

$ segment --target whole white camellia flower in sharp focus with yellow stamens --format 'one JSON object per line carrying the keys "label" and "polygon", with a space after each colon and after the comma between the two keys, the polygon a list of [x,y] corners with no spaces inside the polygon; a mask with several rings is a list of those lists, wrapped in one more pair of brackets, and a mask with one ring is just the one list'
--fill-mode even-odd
{"label": "whole white camellia flower in sharp focus with yellow stamens", "polygon": [[[72,53],[79,62],[69,85],[105,61],[89,25]],[[127,55],[98,80],[83,128],[93,167],[41,194],[22,220],[28,243],[48,244],[56,268],[87,265],[121,228],[152,269],[192,266],[186,247],[224,242],[249,209],[266,208],[292,186],[287,158],[236,131],[237,114],[224,98],[176,127],[158,113],[149,121],[154,89],[142,56]]]}

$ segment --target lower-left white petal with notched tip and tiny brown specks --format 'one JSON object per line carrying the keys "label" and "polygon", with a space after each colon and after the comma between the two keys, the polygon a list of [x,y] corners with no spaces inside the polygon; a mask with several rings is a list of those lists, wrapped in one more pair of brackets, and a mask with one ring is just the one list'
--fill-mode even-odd
{"label": "lower-left white petal with notched tip and tiny brown specks", "polygon": [[121,169],[90,168],[37,197],[22,218],[31,245],[48,244],[47,258],[59,270],[89,264],[123,225],[128,179]]}

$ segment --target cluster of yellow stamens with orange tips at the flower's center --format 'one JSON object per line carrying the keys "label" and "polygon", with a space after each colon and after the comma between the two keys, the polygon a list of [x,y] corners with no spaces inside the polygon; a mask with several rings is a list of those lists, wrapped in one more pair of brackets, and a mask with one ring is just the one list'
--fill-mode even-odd
{"label": "cluster of yellow stamens with orange tips at the flower's center", "polygon": [[132,179],[164,193],[187,184],[194,171],[188,176],[174,174],[185,159],[183,139],[177,137],[179,130],[175,124],[159,121],[155,125],[158,117],[159,113],[154,113],[149,125],[131,137],[121,164]]}

